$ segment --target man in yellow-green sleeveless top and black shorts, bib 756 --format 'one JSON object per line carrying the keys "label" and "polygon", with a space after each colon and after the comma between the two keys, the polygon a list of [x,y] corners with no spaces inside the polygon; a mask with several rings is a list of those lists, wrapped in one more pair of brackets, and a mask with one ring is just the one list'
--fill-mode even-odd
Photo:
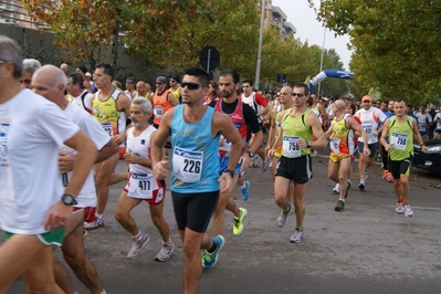
{"label": "man in yellow-green sleeveless top and black shorts, bib 756", "polygon": [[[282,156],[277,162],[274,180],[274,200],[282,208],[277,225],[284,227],[291,211],[287,193],[290,183],[294,182],[294,210],[296,225],[290,241],[302,242],[303,219],[306,208],[304,198],[307,181],[312,178],[311,148],[318,150],[326,147],[326,138],[318,117],[306,107],[308,87],[296,84],[293,92],[294,107],[281,113],[281,132],[277,135],[269,156],[282,145]],[[312,141],[312,137],[316,138]]]}

